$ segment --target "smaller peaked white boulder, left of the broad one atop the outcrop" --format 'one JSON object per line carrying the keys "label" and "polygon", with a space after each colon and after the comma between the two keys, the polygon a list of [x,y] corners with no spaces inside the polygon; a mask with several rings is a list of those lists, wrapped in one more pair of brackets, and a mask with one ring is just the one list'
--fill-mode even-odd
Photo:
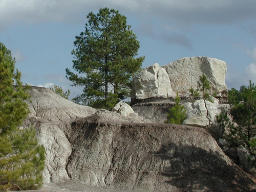
{"label": "smaller peaked white boulder, left of the broad one atop the outcrop", "polygon": [[165,69],[158,63],[146,67],[134,78],[132,99],[151,97],[174,97],[176,94],[170,87],[170,81]]}

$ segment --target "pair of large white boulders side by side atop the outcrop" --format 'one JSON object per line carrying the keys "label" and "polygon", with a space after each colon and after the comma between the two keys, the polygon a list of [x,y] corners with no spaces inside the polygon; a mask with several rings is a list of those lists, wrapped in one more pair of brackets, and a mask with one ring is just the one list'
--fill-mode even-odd
{"label": "pair of large white boulders side by side atop the outcrop", "polygon": [[199,76],[208,77],[212,87],[210,92],[227,90],[225,84],[226,63],[209,57],[182,58],[160,67],[157,63],[146,67],[134,78],[133,100],[150,97],[175,97],[178,91],[188,94],[191,87],[197,88]]}

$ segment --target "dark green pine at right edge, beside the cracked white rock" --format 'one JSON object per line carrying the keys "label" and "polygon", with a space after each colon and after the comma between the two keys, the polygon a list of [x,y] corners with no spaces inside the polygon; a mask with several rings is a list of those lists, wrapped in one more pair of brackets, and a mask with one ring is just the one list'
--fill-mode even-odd
{"label": "dark green pine at right edge, beside the cracked white rock", "polygon": [[231,105],[230,114],[237,126],[229,126],[230,133],[225,137],[235,145],[243,145],[256,154],[256,86],[241,86],[240,91],[232,88],[228,92]]}

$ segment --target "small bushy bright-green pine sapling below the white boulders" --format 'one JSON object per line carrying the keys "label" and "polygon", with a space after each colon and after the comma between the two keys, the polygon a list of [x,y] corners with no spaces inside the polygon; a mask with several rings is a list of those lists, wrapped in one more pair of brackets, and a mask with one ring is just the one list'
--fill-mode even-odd
{"label": "small bushy bright-green pine sapling below the white boulders", "polygon": [[179,105],[180,97],[178,96],[178,92],[175,98],[175,106],[169,108],[167,113],[167,121],[165,123],[168,124],[179,124],[181,125],[183,121],[186,119],[186,109],[184,109],[183,105]]}

